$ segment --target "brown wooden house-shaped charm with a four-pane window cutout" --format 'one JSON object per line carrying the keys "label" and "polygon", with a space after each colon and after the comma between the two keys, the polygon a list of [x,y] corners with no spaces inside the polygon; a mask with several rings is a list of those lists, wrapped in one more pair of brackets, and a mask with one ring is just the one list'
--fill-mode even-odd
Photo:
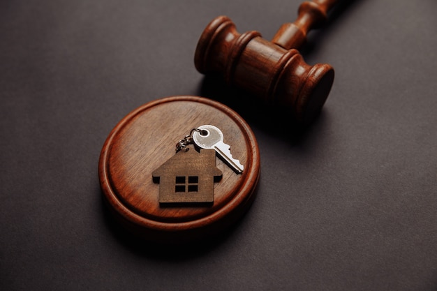
{"label": "brown wooden house-shaped charm with a four-pane window cutout", "polygon": [[214,181],[220,181],[216,151],[178,151],[151,173],[159,183],[159,203],[212,203]]}

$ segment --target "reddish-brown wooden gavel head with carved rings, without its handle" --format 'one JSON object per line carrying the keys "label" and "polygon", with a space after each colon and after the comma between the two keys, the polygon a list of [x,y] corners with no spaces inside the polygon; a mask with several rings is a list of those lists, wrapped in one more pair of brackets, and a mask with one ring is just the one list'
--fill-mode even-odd
{"label": "reddish-brown wooden gavel head with carved rings, without its handle", "polygon": [[309,66],[297,50],[285,50],[257,31],[240,34],[225,16],[203,31],[194,61],[200,73],[220,73],[228,84],[288,107],[299,124],[313,121],[334,82],[332,66]]}

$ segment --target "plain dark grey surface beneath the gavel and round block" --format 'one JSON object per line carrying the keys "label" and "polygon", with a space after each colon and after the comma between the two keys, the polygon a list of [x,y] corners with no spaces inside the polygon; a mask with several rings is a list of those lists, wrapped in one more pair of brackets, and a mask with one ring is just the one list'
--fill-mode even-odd
{"label": "plain dark grey surface beneath the gavel and round block", "polygon": [[[271,39],[299,3],[1,1],[0,289],[436,290],[437,1],[341,4],[302,50],[334,87],[290,136],[193,54],[218,15]],[[97,166],[122,117],[174,95],[242,114],[262,174],[232,230],[170,251],[114,225]]]}

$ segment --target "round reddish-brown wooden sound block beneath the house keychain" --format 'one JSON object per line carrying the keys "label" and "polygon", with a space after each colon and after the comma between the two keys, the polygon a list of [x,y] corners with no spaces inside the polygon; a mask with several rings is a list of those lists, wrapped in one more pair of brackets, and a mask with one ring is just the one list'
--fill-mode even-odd
{"label": "round reddish-brown wooden sound block beneath the house keychain", "polygon": [[[151,173],[175,155],[176,143],[193,128],[213,125],[244,171],[216,158],[223,173],[212,204],[163,205]],[[195,149],[192,149],[195,151]],[[101,188],[118,220],[149,241],[179,243],[215,234],[250,206],[260,175],[260,153],[252,130],[229,107],[207,98],[162,98],[133,110],[111,131],[99,161]]]}

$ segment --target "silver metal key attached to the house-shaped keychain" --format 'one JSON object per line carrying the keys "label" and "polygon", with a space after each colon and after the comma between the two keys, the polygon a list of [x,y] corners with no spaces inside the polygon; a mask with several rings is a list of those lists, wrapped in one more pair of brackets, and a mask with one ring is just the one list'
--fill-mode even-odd
{"label": "silver metal key attached to the house-shaped keychain", "polygon": [[232,158],[230,154],[230,145],[223,142],[223,133],[215,126],[199,126],[199,130],[193,133],[193,141],[202,149],[215,149],[216,153],[225,160],[232,170],[241,174],[244,166],[238,160]]}

